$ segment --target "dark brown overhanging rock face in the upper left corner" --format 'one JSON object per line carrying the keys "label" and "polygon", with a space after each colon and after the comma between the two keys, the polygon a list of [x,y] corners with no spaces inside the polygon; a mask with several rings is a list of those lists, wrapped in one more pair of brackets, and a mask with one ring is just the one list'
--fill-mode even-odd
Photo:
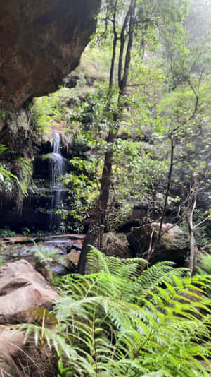
{"label": "dark brown overhanging rock face in the upper left corner", "polygon": [[7,0],[0,4],[0,108],[58,88],[78,64],[101,0]]}

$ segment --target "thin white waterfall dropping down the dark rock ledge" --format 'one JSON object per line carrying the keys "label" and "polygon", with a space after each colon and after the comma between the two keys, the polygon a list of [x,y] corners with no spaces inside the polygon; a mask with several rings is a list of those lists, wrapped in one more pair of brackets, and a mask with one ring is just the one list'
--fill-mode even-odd
{"label": "thin white waterfall dropping down the dark rock ledge", "polygon": [[53,131],[53,153],[51,153],[51,217],[50,230],[58,229],[61,217],[56,210],[63,207],[63,183],[58,178],[64,174],[64,160],[60,153],[60,135]]}

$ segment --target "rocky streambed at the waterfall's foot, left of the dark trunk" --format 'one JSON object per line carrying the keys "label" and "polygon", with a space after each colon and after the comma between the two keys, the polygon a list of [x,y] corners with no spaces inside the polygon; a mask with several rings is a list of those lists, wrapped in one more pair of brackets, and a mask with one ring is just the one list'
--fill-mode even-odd
{"label": "rocky streambed at the waterfall's foot, left of the dark trunk", "polygon": [[83,240],[84,234],[3,238],[1,259],[5,262],[24,258],[35,268],[50,268],[58,275],[75,273]]}

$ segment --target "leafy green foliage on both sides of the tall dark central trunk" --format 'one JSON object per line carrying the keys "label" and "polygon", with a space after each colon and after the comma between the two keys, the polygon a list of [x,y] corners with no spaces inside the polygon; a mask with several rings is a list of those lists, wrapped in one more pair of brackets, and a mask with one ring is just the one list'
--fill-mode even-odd
{"label": "leafy green foliage on both sides of the tall dark central trunk", "polygon": [[[148,73],[147,78],[150,74]],[[144,80],[144,79],[143,79]],[[146,124],[153,126],[162,138],[160,119],[153,119],[150,104],[146,99],[146,93],[140,90],[127,97],[127,106],[122,113],[122,119],[118,125],[113,121],[113,112],[117,111],[118,91],[113,89],[113,95],[108,100],[107,84],[98,83],[96,94],[86,97],[86,101],[78,103],[77,114],[73,121],[82,123],[82,129],[77,137],[78,142],[86,143],[91,148],[88,159],[75,158],[72,164],[72,173],[65,176],[64,182],[68,184],[70,194],[73,197],[72,215],[78,220],[87,215],[87,211],[94,205],[100,191],[101,174],[103,171],[103,159],[108,150],[114,152],[113,181],[110,196],[110,211],[107,212],[108,229],[117,228],[129,213],[133,203],[142,198],[151,200],[152,193],[156,190],[158,182],[167,172],[167,163],[163,155],[158,156],[158,148],[151,152],[143,142],[136,142],[136,138],[143,138],[142,132]],[[136,124],[140,126],[137,126]],[[119,134],[127,134],[126,140],[118,138],[114,143],[107,143],[105,138],[108,130],[120,126]],[[156,158],[157,157],[157,158]],[[118,210],[114,210],[117,205]]]}

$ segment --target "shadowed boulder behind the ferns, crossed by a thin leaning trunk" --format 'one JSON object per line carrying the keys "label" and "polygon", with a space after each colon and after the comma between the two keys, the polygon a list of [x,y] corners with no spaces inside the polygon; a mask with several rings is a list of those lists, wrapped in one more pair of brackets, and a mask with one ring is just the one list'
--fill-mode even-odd
{"label": "shadowed boulder behind the ferns, crossed by a thin leaning trunk", "polygon": [[132,228],[132,232],[127,236],[132,256],[146,258],[153,231],[152,241],[155,251],[150,262],[173,261],[177,265],[184,265],[189,253],[187,234],[178,225],[163,224],[162,238],[156,244],[159,227],[159,222],[153,222],[151,225]]}

